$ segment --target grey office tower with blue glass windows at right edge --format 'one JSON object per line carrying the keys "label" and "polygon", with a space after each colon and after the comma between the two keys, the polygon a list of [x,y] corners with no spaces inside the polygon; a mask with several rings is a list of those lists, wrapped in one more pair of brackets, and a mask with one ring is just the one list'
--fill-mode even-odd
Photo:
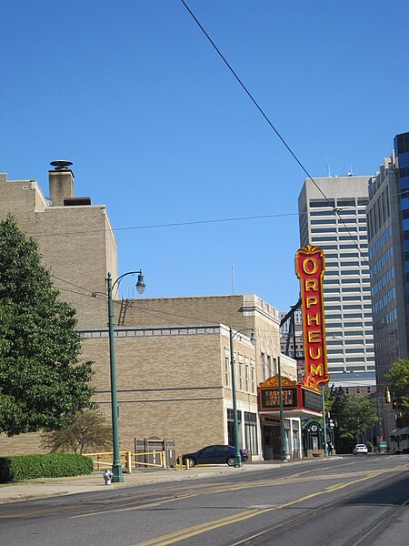
{"label": "grey office tower with blue glass windows at right edge", "polygon": [[376,379],[408,356],[409,319],[409,133],[394,137],[369,184],[368,242],[372,275]]}

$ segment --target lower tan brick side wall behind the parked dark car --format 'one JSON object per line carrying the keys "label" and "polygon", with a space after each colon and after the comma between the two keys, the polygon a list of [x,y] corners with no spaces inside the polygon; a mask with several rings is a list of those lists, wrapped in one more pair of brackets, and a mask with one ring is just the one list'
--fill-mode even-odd
{"label": "lower tan brick side wall behind the parked dark car", "polygon": [[[118,333],[124,334],[115,337],[121,449],[133,450],[135,438],[150,436],[175,440],[176,449],[184,452],[226,442],[225,407],[232,407],[231,389],[223,389],[228,330],[217,326]],[[107,332],[83,335],[82,358],[95,360],[95,401],[110,416]],[[238,341],[234,349],[254,357],[248,341]],[[237,392],[237,400],[255,412],[255,394]]]}

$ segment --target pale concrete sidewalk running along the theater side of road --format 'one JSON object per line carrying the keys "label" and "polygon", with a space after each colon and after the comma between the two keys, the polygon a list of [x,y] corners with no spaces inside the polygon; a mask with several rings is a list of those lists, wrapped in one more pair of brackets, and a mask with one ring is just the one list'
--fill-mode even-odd
{"label": "pale concrete sidewalk running along the theater side of road", "polygon": [[57,497],[60,495],[72,495],[89,491],[112,490],[117,488],[145,485],[164,481],[197,480],[212,476],[233,475],[240,472],[254,470],[274,470],[282,465],[297,465],[311,459],[279,460],[246,463],[243,467],[235,469],[227,465],[204,465],[189,470],[180,469],[155,469],[134,470],[131,474],[124,474],[123,483],[105,485],[102,470],[95,470],[90,476],[77,476],[75,478],[43,478],[37,480],[19,481],[17,483],[0,484],[0,504],[5,502],[26,501],[28,499],[42,499]]}

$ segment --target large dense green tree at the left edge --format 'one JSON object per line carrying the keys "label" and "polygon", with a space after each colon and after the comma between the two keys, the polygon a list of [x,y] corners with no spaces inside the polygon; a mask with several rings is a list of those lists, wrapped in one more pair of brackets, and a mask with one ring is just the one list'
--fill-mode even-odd
{"label": "large dense green tree at the left edge", "polygon": [[35,241],[0,222],[0,432],[55,430],[92,407],[75,309],[59,299]]}

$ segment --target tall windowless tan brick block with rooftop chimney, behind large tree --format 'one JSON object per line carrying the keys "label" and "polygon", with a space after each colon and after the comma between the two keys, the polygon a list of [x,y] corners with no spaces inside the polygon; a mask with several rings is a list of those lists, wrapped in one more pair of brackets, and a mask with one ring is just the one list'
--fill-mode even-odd
{"label": "tall windowless tan brick block with rooftop chimney, behind large tree", "polygon": [[76,308],[78,325],[105,326],[107,271],[117,277],[116,242],[105,205],[74,197],[71,169],[49,171],[49,196],[35,180],[7,180],[0,173],[0,220],[15,217],[35,239],[61,297]]}

